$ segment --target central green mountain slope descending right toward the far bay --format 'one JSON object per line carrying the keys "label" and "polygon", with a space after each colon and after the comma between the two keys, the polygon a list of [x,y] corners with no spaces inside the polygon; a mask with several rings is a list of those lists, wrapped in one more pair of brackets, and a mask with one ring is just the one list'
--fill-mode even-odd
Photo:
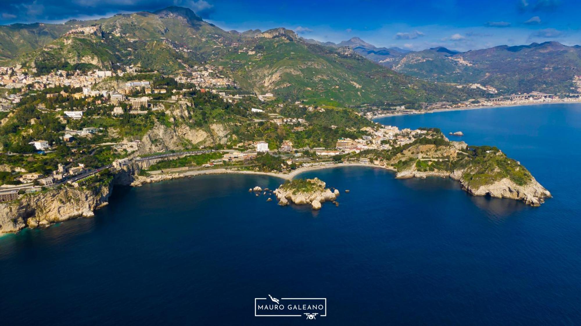
{"label": "central green mountain slope descending right toward the far bay", "polygon": [[254,53],[231,52],[217,63],[256,93],[272,92],[283,99],[343,104],[418,103],[466,96],[379,66],[345,48],[333,49],[302,41],[293,31],[278,28],[243,40]]}

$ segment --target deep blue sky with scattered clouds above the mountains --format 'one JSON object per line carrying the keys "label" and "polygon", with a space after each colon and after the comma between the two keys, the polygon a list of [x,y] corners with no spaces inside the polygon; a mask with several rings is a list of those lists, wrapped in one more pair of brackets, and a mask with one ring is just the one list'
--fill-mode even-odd
{"label": "deep blue sky with scattered clouds above the mountains", "polygon": [[193,9],[225,30],[286,27],[304,38],[339,42],[360,37],[376,46],[457,50],[559,41],[581,44],[578,0],[244,1],[12,0],[0,24],[62,23],[169,5]]}

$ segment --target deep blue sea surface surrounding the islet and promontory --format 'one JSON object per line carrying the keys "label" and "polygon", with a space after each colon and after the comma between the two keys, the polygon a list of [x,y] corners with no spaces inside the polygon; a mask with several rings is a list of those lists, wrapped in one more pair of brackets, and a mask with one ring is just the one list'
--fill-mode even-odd
{"label": "deep blue sea surface surrounding the islet and promontory", "polygon": [[[341,191],[320,211],[248,192],[266,176],[116,187],[95,218],[0,237],[0,324],[580,325],[581,105],[378,121],[496,145],[554,198],[355,166],[301,175]],[[327,317],[254,317],[268,294],[327,298]]]}

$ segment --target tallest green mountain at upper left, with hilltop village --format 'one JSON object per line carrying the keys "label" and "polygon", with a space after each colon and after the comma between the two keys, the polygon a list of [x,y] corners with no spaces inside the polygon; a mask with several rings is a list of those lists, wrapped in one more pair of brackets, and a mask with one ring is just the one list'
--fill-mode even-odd
{"label": "tallest green mountain at upper left, with hilltop village", "polygon": [[16,61],[40,67],[39,73],[80,66],[110,69],[116,64],[174,72],[184,68],[180,61],[198,62],[230,37],[191,10],[179,7],[87,20],[74,27],[94,27],[95,31],[73,30]]}

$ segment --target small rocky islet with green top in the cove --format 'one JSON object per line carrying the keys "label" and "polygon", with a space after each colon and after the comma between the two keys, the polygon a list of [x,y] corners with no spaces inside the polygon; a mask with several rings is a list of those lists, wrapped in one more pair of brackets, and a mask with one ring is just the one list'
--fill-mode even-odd
{"label": "small rocky islet with green top in the cove", "polygon": [[296,205],[311,205],[313,209],[320,209],[321,203],[335,201],[339,190],[325,188],[327,184],[318,178],[286,180],[278,189],[274,190],[278,205],[285,206],[290,202]]}

